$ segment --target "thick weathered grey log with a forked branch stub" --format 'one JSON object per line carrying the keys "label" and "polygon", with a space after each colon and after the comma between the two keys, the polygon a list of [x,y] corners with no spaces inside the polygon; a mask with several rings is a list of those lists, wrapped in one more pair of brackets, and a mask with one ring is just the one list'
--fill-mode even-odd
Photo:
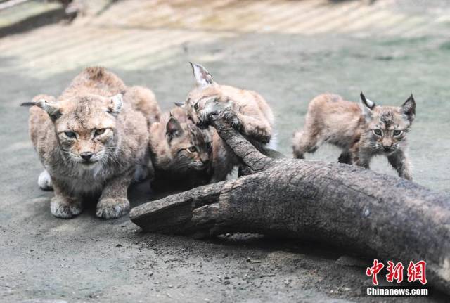
{"label": "thick weathered grey log with a forked branch stub", "polygon": [[131,209],[143,231],[253,232],[317,240],[369,257],[427,262],[450,293],[450,198],[396,176],[339,163],[271,159],[226,121],[212,120],[248,175]]}

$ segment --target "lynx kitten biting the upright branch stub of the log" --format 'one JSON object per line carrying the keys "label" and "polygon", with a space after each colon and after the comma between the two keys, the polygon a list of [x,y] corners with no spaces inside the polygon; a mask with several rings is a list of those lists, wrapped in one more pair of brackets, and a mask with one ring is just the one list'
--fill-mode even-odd
{"label": "lynx kitten biting the upright branch stub of the log", "polygon": [[[199,64],[193,64],[195,88],[192,89],[182,106],[189,119],[199,127],[207,127],[212,112],[233,111],[236,115],[230,121],[255,145],[265,146],[274,133],[274,114],[264,98],[255,91],[237,89],[214,82],[212,75]],[[211,182],[223,181],[239,165],[238,158],[224,143],[217,131],[212,129],[213,176]]]}

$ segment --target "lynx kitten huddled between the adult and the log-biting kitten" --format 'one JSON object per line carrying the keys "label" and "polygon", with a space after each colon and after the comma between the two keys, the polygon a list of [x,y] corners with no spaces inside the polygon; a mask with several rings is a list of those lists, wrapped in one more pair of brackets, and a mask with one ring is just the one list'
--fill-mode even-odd
{"label": "lynx kitten huddled between the adult and the log-biting kitten", "polygon": [[177,107],[162,115],[149,132],[153,190],[188,190],[209,183],[212,142],[208,130],[195,126]]}

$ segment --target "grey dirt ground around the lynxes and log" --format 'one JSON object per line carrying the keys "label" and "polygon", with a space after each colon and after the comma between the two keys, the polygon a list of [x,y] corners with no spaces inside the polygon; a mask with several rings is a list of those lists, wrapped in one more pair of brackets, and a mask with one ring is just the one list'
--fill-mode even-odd
{"label": "grey dirt ground around the lynxes and log", "polygon": [[[136,4],[120,1],[108,8],[109,18],[128,2]],[[321,9],[337,18],[341,5],[350,4],[337,1]],[[297,4],[287,2],[283,10],[290,5]],[[390,12],[399,10],[404,11],[392,6]],[[442,11],[425,16],[417,11],[392,21],[404,30],[391,34],[378,28],[376,33],[307,34],[167,27],[166,32],[164,23],[161,28],[115,28],[100,27],[95,19],[85,25],[80,18],[73,25],[0,39],[0,301],[399,301],[361,296],[370,282],[364,272],[371,260],[342,257],[354,254],[352,247],[242,234],[214,240],[146,234],[128,217],[97,219],[94,205],[75,219],[56,219],[49,211],[53,193],[37,187],[42,167],[28,138],[27,110],[18,105],[39,93],[59,94],[82,67],[95,64],[109,67],[127,84],[149,86],[168,110],[184,101],[193,85],[188,61],[195,61],[219,83],[262,94],[276,113],[278,150],[290,155],[290,137],[302,127],[307,103],[316,94],[331,91],[356,101],[363,90],[375,103],[400,105],[412,91],[417,101],[409,134],[414,179],[448,193],[450,22]],[[372,18],[361,18],[366,17]],[[403,25],[412,18],[426,22]],[[444,21],[423,29],[438,19]],[[96,30],[105,37],[89,39]],[[114,36],[121,31],[124,37]],[[174,32],[176,43],[158,49],[160,41],[175,39]],[[142,37],[153,42],[139,44]],[[335,161],[338,150],[324,146],[308,158]],[[381,157],[372,167],[394,174]],[[147,183],[130,188],[129,196],[132,206],[155,199]],[[432,292],[427,299],[401,301],[448,302],[448,297]]]}

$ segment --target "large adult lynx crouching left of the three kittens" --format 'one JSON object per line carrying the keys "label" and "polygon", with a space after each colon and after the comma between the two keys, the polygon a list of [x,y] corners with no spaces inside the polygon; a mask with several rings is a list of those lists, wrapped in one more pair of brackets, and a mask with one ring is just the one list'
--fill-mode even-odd
{"label": "large adult lynx crouching left of the three kittens", "polygon": [[45,168],[39,186],[55,191],[51,213],[70,218],[82,212],[84,198],[98,198],[98,217],[126,214],[127,188],[136,166],[146,161],[148,124],[159,118],[153,93],[89,67],[58,101],[39,95],[27,105],[36,105],[30,108],[30,136]]}

